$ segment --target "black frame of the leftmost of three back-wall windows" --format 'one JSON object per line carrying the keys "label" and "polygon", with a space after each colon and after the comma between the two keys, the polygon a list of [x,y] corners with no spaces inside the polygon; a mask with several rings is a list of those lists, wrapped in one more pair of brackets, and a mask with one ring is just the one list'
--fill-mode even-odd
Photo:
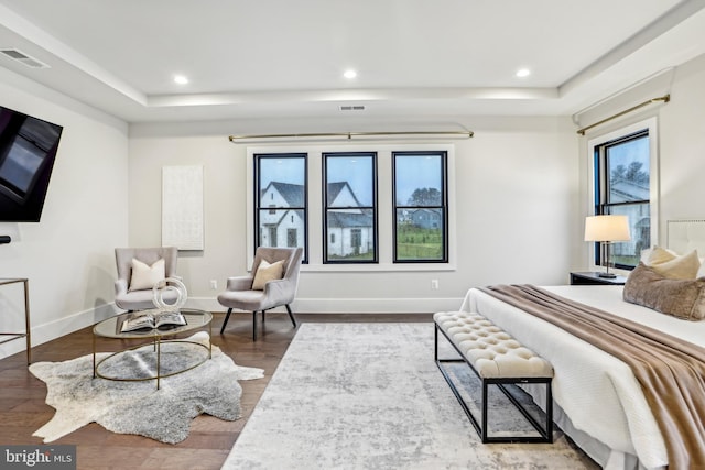
{"label": "black frame of the leftmost of three back-wall windows", "polygon": [[[294,153],[294,152],[286,152],[286,153],[256,153],[252,155],[253,159],[253,179],[254,179],[254,185],[253,185],[253,201],[254,201],[254,207],[253,207],[253,211],[254,211],[254,243],[253,243],[253,250],[254,252],[257,252],[257,249],[261,245],[261,230],[260,230],[260,214],[262,211],[267,211],[270,212],[272,210],[282,210],[282,209],[286,209],[286,211],[290,210],[301,210],[302,211],[302,217],[303,217],[303,221],[304,221],[304,226],[303,226],[303,231],[304,231],[304,236],[303,236],[303,240],[304,240],[304,245],[303,248],[303,256],[302,256],[302,263],[303,264],[307,264],[308,263],[308,154],[307,153]],[[304,168],[303,168],[303,173],[304,173],[304,184],[303,184],[303,206],[301,207],[294,207],[294,206],[290,206],[290,207],[276,207],[275,205],[270,205],[270,204],[264,204],[264,201],[262,201],[262,196],[263,196],[263,190],[265,188],[262,187],[262,181],[261,181],[261,175],[262,175],[262,170],[261,170],[261,164],[264,160],[284,160],[284,159],[303,159],[303,164],[304,164]],[[289,245],[288,240],[284,240],[285,244]],[[281,247],[281,248],[285,248],[285,247]],[[291,248],[291,247],[289,247]]]}

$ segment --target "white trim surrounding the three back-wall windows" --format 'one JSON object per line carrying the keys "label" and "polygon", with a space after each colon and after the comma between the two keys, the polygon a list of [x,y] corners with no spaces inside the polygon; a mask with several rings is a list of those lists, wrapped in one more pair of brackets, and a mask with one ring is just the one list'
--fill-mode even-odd
{"label": "white trim surrounding the three back-wall windows", "polygon": [[[448,262],[447,263],[393,263],[393,205],[392,205],[392,152],[445,151],[447,154],[448,192]],[[329,263],[323,261],[323,154],[332,152],[377,152],[378,183],[378,240],[379,263]],[[247,265],[252,265],[254,252],[254,154],[306,153],[308,183],[308,263],[302,271],[308,272],[437,272],[455,271],[456,250],[456,199],[455,199],[455,145],[453,144],[359,144],[359,145],[311,145],[311,146],[257,146],[247,149]]]}

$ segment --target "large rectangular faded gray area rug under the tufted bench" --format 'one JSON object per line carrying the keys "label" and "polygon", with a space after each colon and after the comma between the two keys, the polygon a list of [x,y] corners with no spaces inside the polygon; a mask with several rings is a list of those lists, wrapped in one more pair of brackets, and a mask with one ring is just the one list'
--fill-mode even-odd
{"label": "large rectangular faded gray area rug under the tufted bench", "polygon": [[[495,408],[490,429],[522,426]],[[560,430],[482,445],[433,360],[433,324],[303,324],[223,468],[598,467]]]}

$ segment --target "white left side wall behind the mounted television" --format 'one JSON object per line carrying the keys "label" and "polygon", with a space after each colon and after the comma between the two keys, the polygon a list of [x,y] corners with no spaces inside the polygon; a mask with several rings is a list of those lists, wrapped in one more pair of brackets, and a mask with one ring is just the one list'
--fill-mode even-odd
{"label": "white left side wall behind the mounted television", "polygon": [[[0,277],[28,277],[32,342],[112,311],[113,248],[127,243],[127,124],[0,67],[0,106],[63,125],[41,222],[0,222]],[[0,331],[24,329],[21,289],[0,287]],[[0,357],[24,349],[19,339]],[[89,351],[86,351],[89,352]]]}

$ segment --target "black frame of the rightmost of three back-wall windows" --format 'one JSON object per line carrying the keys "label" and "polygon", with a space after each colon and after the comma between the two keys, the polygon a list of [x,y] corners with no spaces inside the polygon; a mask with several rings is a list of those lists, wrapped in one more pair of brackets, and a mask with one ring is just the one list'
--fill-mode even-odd
{"label": "black frame of the rightmost of three back-wall windows", "polygon": [[[397,157],[398,156],[429,156],[436,155],[441,157],[441,205],[440,206],[409,206],[409,205],[398,205],[397,204]],[[448,263],[448,152],[447,151],[399,151],[391,153],[392,159],[392,218],[393,218],[393,234],[392,234],[392,262],[394,264],[410,264],[410,263],[425,263],[425,264],[447,264]],[[399,218],[398,210],[400,208],[404,209],[441,209],[441,214],[443,217],[443,233],[442,233],[442,258],[441,259],[399,259],[398,253],[398,234],[399,234]]]}

